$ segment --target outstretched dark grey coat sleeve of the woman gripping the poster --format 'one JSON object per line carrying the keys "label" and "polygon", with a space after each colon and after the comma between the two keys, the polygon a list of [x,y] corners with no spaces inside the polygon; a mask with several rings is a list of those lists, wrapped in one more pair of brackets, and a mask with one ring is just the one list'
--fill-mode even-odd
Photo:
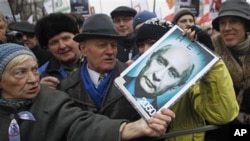
{"label": "outstretched dark grey coat sleeve of the woman gripping the poster", "polygon": [[51,91],[43,93],[45,100],[39,102],[43,107],[43,114],[38,119],[43,121],[44,140],[119,141],[119,129],[124,120],[111,120],[103,115],[82,111],[66,93]]}

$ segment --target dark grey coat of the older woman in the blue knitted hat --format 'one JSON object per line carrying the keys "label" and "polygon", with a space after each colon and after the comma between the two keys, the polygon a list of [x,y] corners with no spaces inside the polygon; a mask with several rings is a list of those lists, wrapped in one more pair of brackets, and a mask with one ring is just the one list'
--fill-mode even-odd
{"label": "dark grey coat of the older woman in the blue knitted hat", "polygon": [[[36,121],[19,120],[21,141],[115,141],[119,140],[122,120],[111,121],[75,107],[67,94],[46,86],[28,109]],[[20,112],[20,111],[18,111]],[[9,141],[12,107],[0,105],[0,140]],[[108,129],[108,130],[103,130]]]}

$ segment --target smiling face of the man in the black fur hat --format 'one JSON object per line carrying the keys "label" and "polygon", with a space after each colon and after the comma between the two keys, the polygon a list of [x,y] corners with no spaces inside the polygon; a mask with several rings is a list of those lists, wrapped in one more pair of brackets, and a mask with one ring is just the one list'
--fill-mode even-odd
{"label": "smiling face of the man in the black fur hat", "polygon": [[74,34],[62,32],[49,39],[49,51],[55,58],[66,64],[73,65],[81,56],[79,44],[73,40]]}

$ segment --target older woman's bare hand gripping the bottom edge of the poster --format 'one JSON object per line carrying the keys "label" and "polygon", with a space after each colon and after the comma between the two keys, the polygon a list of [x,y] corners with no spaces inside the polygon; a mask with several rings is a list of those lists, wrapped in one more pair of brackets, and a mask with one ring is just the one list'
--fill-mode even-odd
{"label": "older woman's bare hand gripping the bottom edge of the poster", "polygon": [[162,109],[161,113],[156,113],[147,121],[140,119],[125,125],[122,139],[129,140],[143,136],[159,137],[164,135],[173,118],[175,118],[173,111]]}

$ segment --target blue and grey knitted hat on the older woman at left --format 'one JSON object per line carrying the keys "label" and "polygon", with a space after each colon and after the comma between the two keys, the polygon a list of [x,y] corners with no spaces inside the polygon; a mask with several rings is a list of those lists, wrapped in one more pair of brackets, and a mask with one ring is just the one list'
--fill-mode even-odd
{"label": "blue and grey knitted hat on the older woman at left", "polygon": [[14,43],[5,43],[0,45],[0,78],[2,78],[4,69],[6,68],[7,64],[13,58],[22,54],[27,54],[36,58],[30,49],[22,45]]}

